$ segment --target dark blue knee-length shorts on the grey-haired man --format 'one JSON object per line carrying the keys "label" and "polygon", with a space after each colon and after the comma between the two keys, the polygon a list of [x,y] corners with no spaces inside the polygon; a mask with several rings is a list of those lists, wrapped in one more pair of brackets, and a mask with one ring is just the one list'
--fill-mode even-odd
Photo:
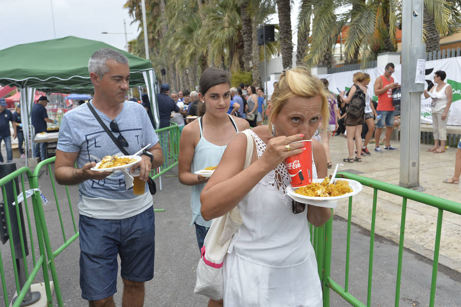
{"label": "dark blue knee-length shorts on the grey-haired man", "polygon": [[117,292],[117,255],[121,277],[148,281],[154,277],[154,209],[120,220],[80,215],[81,297],[99,300]]}

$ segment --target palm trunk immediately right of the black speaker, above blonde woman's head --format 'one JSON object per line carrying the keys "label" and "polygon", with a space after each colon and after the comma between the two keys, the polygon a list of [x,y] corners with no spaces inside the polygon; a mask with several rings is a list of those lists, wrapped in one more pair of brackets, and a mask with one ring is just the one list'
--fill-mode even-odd
{"label": "palm trunk immediately right of the black speaker, above blonde woman's head", "polygon": [[277,0],[279,14],[279,40],[282,49],[282,65],[286,69],[291,67],[293,45],[291,43],[290,0]]}

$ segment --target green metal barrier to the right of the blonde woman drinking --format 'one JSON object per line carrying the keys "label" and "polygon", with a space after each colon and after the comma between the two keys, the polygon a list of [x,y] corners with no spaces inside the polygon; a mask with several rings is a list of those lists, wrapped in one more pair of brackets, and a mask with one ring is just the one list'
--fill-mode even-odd
{"label": "green metal barrier to the right of the blonde woman drinking", "polygon": [[405,235],[405,217],[407,211],[407,200],[414,200],[428,206],[438,209],[437,226],[435,233],[434,244],[434,257],[432,264],[432,279],[430,289],[429,306],[433,307],[435,302],[435,290],[437,282],[437,269],[438,269],[438,256],[440,249],[440,241],[442,234],[442,217],[444,211],[449,211],[461,215],[461,203],[443,199],[440,197],[416,192],[410,189],[402,188],[399,186],[391,185],[382,181],[354,175],[350,173],[339,173],[337,177],[348,178],[357,180],[366,187],[373,188],[373,205],[371,216],[371,230],[370,230],[370,251],[369,251],[369,266],[367,277],[367,303],[364,304],[352,294],[349,293],[349,258],[350,258],[350,232],[351,232],[351,211],[352,211],[352,197],[349,197],[349,208],[347,218],[347,239],[346,239],[346,268],[345,268],[345,281],[344,288],[339,284],[339,281],[334,281],[330,276],[331,270],[331,251],[332,251],[332,218],[322,227],[315,228],[312,235],[312,244],[316,250],[316,256],[319,266],[319,275],[323,285],[323,306],[329,307],[330,305],[330,289],[338,293],[352,306],[365,307],[371,306],[371,286],[372,286],[372,269],[373,269],[373,251],[374,251],[374,231],[376,221],[376,206],[378,191],[387,192],[402,197],[402,217],[400,224],[400,239],[399,239],[399,253],[397,260],[397,274],[395,282],[395,297],[394,306],[399,306],[400,299],[400,286],[402,278],[402,258],[404,249],[404,235]]}

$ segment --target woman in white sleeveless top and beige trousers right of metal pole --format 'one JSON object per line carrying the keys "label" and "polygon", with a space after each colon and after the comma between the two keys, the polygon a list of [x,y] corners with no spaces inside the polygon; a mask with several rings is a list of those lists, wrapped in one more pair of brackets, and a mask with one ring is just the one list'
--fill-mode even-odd
{"label": "woman in white sleeveless top and beige trousers right of metal pole", "polygon": [[427,151],[435,153],[445,152],[445,142],[447,141],[447,122],[448,111],[453,101],[453,90],[451,85],[445,83],[447,74],[443,70],[434,73],[435,85],[429,91],[424,90],[424,97],[432,97],[432,131],[434,134],[434,146]]}

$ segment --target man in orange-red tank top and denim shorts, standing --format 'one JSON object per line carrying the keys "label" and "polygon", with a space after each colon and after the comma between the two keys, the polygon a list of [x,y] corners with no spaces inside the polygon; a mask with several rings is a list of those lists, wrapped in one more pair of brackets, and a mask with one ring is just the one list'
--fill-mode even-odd
{"label": "man in orange-red tank top and denim shorts, standing", "polygon": [[390,136],[394,126],[395,111],[395,107],[392,105],[392,89],[399,86],[399,84],[394,83],[394,78],[391,77],[394,71],[394,64],[387,63],[384,69],[384,74],[376,78],[374,81],[374,94],[378,96],[378,107],[376,107],[376,113],[378,113],[378,116],[381,115],[381,119],[376,123],[376,130],[374,132],[374,151],[376,153],[383,153],[383,150],[380,148],[380,137],[384,126],[386,126],[384,149],[397,150],[395,147],[390,145]]}

